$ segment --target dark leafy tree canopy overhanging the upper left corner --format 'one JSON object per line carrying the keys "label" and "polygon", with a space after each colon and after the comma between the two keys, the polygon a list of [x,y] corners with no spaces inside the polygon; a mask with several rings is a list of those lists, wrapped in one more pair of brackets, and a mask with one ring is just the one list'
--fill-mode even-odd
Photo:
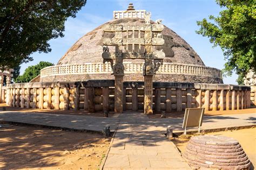
{"label": "dark leafy tree canopy overhanging the upper left corner", "polygon": [[0,68],[32,60],[33,52],[51,51],[48,41],[64,37],[65,21],[76,17],[86,0],[1,0]]}

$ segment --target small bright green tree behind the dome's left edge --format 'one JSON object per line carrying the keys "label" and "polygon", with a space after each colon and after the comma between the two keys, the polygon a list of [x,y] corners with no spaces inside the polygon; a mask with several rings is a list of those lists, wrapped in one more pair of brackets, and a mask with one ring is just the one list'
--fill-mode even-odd
{"label": "small bright green tree behind the dome's left edge", "polygon": [[36,76],[38,76],[40,74],[41,69],[43,69],[44,67],[48,67],[48,66],[53,66],[53,63],[46,62],[46,61],[40,61],[37,65],[29,66],[28,68],[26,68],[23,75],[18,76],[14,81],[16,83],[30,82],[33,78],[35,78]]}

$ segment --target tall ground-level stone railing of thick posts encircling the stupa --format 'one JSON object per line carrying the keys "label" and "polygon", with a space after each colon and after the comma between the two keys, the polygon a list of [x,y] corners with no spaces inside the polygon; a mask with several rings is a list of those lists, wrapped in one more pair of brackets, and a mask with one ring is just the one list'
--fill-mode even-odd
{"label": "tall ground-level stone railing of thick posts encircling the stupa", "polygon": [[[124,110],[143,110],[144,83],[124,82],[123,85]],[[256,102],[250,100],[250,90],[248,86],[229,84],[154,82],[153,109],[154,112],[198,107],[206,110],[246,109]],[[90,112],[114,110],[113,80],[8,84],[1,94],[2,102],[11,107]]]}

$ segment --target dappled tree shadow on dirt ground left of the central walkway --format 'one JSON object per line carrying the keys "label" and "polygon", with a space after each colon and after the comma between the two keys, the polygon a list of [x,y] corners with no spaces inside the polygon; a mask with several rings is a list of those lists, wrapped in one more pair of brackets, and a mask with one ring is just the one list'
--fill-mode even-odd
{"label": "dappled tree shadow on dirt ground left of the central walkway", "polygon": [[54,167],[69,164],[69,158],[67,159],[65,152],[76,151],[78,147],[79,149],[90,148],[95,144],[104,144],[105,141],[100,134],[9,124],[2,126],[0,169]]}

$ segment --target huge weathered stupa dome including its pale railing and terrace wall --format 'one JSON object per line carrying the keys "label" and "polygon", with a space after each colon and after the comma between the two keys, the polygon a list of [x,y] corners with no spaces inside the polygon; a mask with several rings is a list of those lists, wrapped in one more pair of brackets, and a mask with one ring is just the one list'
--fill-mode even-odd
{"label": "huge weathered stupa dome including its pale railing and terrace wall", "polygon": [[[142,25],[143,23],[145,23],[144,18],[132,17],[114,18],[100,25],[80,38],[62,56],[56,66],[42,69],[41,81],[113,80],[110,64],[103,63],[102,46],[103,38],[113,38],[114,33],[104,33],[103,27],[107,24]],[[130,36],[132,33],[128,32],[127,34]],[[199,55],[177,33],[164,26],[161,34],[163,34],[165,43],[156,49],[163,49],[165,59],[164,64],[154,75],[153,81],[223,83],[220,70],[206,67]],[[125,67],[124,81],[144,80],[142,74],[144,60],[124,60],[123,63]]]}

